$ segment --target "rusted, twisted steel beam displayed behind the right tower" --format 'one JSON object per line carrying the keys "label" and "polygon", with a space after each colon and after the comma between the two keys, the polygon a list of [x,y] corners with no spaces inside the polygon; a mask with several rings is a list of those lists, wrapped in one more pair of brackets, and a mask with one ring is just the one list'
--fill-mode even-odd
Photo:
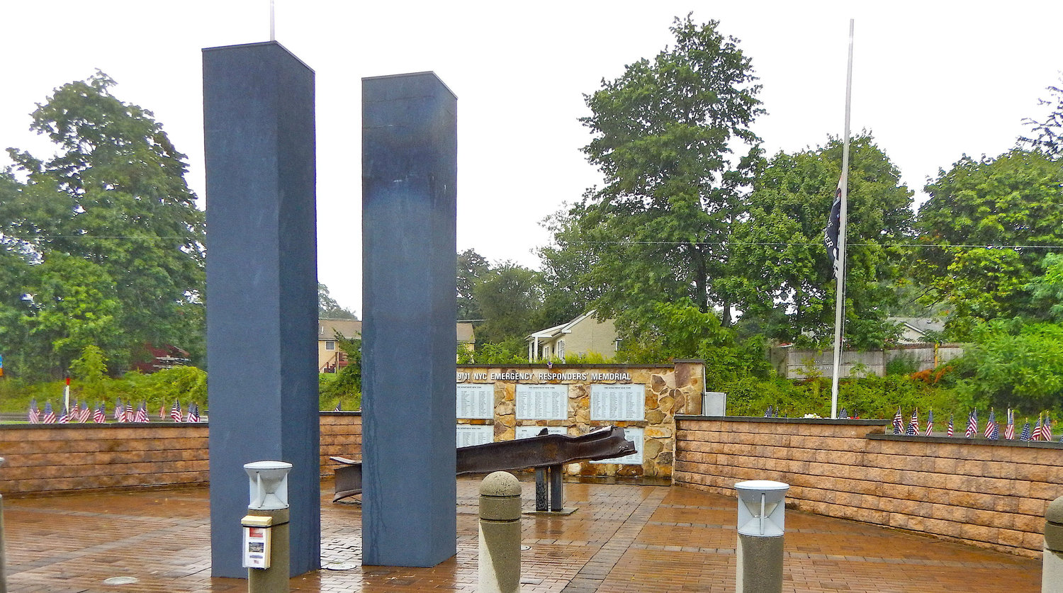
{"label": "rusted, twisted steel beam displayed behind the right tower", "polygon": [[[457,450],[457,475],[497,471],[550,468],[577,461],[612,459],[635,453],[635,443],[624,438],[619,426],[603,426],[586,435],[542,435]],[[336,469],[333,502],[361,493],[361,462],[331,457],[343,465]]]}

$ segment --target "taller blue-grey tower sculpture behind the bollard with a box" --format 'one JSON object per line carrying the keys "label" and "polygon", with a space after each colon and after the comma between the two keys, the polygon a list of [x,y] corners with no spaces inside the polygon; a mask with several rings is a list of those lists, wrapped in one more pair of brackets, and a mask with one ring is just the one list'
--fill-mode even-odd
{"label": "taller blue-grey tower sculpture behind the bollard with a box", "polygon": [[321,561],[314,71],[275,41],[204,49],[203,112],[212,574],[247,577],[243,464],[277,460],[298,575]]}

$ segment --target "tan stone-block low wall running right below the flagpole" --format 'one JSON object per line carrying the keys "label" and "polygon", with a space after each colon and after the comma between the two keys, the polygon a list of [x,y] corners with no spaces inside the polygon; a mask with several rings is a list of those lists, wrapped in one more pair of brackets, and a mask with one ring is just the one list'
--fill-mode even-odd
{"label": "tan stone-block low wall running right below the flagpole", "polygon": [[889,421],[680,417],[676,484],[735,495],[790,485],[787,506],[1039,557],[1063,495],[1059,443],[884,435]]}

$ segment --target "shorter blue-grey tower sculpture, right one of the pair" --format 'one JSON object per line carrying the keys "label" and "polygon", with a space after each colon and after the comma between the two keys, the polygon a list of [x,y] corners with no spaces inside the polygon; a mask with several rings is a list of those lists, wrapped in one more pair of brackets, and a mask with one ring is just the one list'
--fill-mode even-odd
{"label": "shorter blue-grey tower sculpture, right one of the pair", "polygon": [[362,79],[362,564],[457,553],[457,98]]}

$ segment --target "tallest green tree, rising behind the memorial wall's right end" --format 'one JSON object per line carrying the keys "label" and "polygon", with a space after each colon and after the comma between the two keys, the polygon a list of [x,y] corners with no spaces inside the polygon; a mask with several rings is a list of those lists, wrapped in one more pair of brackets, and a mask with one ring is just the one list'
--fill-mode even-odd
{"label": "tallest green tree, rising behind the memorial wall's right end", "polygon": [[603,290],[594,306],[621,327],[662,301],[719,307],[731,321],[735,295],[719,281],[733,272],[730,234],[760,155],[750,124],[764,112],[749,57],[718,27],[677,18],[673,48],[585,97],[584,152],[605,186],[573,214],[586,234],[608,237],[588,279]]}

